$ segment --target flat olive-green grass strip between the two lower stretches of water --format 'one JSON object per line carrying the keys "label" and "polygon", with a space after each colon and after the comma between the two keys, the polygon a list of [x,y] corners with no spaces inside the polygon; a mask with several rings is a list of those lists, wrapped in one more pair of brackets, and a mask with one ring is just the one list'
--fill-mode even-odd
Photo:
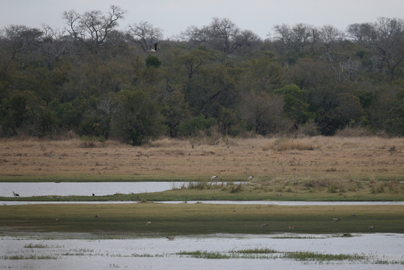
{"label": "flat olive-green grass strip between the two lower stretches of water", "polygon": [[[356,215],[352,217],[351,213]],[[95,218],[95,215],[101,218]],[[340,221],[334,221],[333,217]],[[150,225],[147,225],[148,221],[151,221]],[[263,223],[268,226],[262,227]],[[375,228],[369,229],[369,226]],[[0,208],[0,228],[4,235],[68,232],[107,233],[104,235],[107,237],[274,232],[404,233],[404,205],[5,205]]]}

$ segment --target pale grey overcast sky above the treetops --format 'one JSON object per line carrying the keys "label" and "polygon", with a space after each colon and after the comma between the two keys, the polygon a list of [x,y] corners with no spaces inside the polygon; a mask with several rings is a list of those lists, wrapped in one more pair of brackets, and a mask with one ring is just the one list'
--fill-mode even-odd
{"label": "pale grey overcast sky above the treetops", "polygon": [[275,24],[331,24],[345,31],[349,24],[375,22],[378,17],[404,17],[404,0],[0,0],[0,28],[40,28],[43,23],[63,28],[63,11],[106,13],[111,5],[127,10],[122,30],[145,21],[162,28],[165,37],[188,26],[210,24],[212,17],[231,19],[264,39]]}

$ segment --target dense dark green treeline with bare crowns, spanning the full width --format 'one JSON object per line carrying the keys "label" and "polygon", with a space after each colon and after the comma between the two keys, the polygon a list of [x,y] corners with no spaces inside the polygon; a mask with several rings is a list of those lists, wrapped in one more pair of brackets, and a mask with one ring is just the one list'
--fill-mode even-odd
{"label": "dense dark green treeline with bare crowns, spanning the full width", "polygon": [[[0,32],[0,136],[143,144],[169,135],[404,134],[404,21],[279,24],[261,40],[213,18],[165,39],[125,10],[63,12],[65,28]],[[158,42],[158,51],[148,49]]]}

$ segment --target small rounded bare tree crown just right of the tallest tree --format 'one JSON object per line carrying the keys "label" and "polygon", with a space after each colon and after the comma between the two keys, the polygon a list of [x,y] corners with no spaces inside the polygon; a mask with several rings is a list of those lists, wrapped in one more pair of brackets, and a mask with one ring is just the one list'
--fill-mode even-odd
{"label": "small rounded bare tree crown just right of the tallest tree", "polygon": [[132,37],[133,42],[141,46],[143,51],[147,51],[153,44],[164,37],[161,28],[154,27],[150,22],[143,21],[137,24],[130,24],[127,33]]}

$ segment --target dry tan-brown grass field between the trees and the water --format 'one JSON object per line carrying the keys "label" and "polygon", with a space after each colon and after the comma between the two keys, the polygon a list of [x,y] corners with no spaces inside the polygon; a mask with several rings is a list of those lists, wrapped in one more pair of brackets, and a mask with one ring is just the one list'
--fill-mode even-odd
{"label": "dry tan-brown grass field between the trees and the water", "polygon": [[335,178],[403,180],[404,139],[0,140],[0,181]]}

